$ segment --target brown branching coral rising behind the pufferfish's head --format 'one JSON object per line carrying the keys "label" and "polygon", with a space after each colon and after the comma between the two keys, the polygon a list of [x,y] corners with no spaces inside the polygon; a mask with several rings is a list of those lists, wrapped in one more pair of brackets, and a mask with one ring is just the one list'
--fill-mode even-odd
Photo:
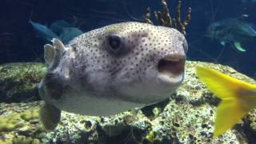
{"label": "brown branching coral rising behind the pufferfish's head", "polygon": [[[182,22],[182,18],[181,18],[182,1],[181,0],[178,0],[178,5],[176,7],[176,18],[172,18],[168,5],[166,3],[166,0],[162,0],[161,3],[162,3],[162,11],[154,11],[154,17],[157,19],[158,25],[177,29],[182,34],[186,35],[186,26],[189,25],[191,20],[191,10],[192,10],[191,7],[187,9],[185,21]],[[150,16],[150,7],[147,8],[144,18],[146,23],[150,23],[152,25],[154,24]]]}

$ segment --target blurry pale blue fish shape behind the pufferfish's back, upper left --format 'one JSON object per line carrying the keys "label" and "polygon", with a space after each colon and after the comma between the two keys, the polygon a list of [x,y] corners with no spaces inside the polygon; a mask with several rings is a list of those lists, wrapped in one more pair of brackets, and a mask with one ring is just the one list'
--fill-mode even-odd
{"label": "blurry pale blue fish shape behind the pufferfish's back, upper left", "polygon": [[64,44],[70,42],[73,38],[82,34],[82,30],[79,30],[73,24],[64,20],[53,22],[50,28],[44,26],[38,22],[29,21],[36,30],[38,37],[50,42],[53,38],[61,39]]}

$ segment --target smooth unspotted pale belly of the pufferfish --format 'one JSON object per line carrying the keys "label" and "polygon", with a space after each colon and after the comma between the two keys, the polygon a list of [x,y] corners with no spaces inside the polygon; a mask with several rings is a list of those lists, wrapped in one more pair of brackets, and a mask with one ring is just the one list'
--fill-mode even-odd
{"label": "smooth unspotted pale belly of the pufferfish", "polygon": [[58,101],[54,102],[54,106],[60,110],[83,115],[107,116],[120,112],[140,108],[145,106],[142,103],[126,102],[117,98],[98,98],[93,96],[62,95]]}

